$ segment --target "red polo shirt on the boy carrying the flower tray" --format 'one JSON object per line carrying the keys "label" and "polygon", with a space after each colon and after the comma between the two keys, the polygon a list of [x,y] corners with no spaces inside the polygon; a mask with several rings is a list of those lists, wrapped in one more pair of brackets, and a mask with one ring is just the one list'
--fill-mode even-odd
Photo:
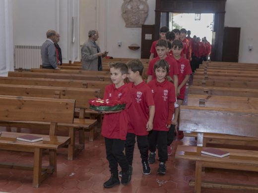
{"label": "red polo shirt on the boy carrying the flower tray", "polygon": [[109,139],[126,140],[128,130],[128,108],[131,105],[131,97],[128,85],[119,88],[115,84],[106,86],[103,99],[121,100],[127,103],[126,109],[119,113],[104,114],[101,134]]}

